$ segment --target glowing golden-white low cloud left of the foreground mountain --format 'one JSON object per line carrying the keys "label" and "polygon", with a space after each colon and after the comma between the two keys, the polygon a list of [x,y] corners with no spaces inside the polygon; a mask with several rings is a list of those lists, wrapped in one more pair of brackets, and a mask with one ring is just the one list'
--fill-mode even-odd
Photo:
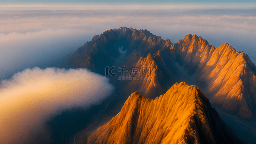
{"label": "glowing golden-white low cloud left of the foreground mountain", "polygon": [[0,144],[22,144],[50,117],[97,105],[112,93],[109,80],[86,69],[25,69],[0,85]]}

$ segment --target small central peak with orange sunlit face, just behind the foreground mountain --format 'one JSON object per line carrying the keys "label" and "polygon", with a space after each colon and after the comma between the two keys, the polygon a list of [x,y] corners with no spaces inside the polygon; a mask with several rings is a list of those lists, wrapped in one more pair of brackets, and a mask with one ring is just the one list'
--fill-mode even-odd
{"label": "small central peak with orange sunlit face, just behind the foreground mountain", "polygon": [[[124,87],[122,91],[130,94],[137,91],[147,98],[155,98],[158,94],[164,94],[166,89],[170,88],[170,82],[174,78],[173,75],[170,74],[171,72],[166,68],[165,62],[161,58],[154,58],[153,60],[149,53],[146,58],[141,57],[135,66],[140,68],[150,67],[151,73],[147,72],[146,74],[143,74],[143,71],[141,70],[136,76],[131,75],[132,77],[135,77],[135,80],[131,81],[130,84]],[[129,76],[129,73],[126,76]],[[163,82],[162,76],[165,76],[164,84],[160,83]]]}

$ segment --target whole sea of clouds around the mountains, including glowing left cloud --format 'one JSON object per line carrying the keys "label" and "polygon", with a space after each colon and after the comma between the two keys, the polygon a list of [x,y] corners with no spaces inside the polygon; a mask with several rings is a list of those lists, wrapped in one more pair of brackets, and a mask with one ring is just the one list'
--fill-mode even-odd
{"label": "whole sea of clouds around the mountains, including glowing left cloud", "polygon": [[114,88],[103,76],[46,67],[121,26],[147,29],[173,43],[187,34],[215,47],[227,42],[256,62],[255,9],[1,10],[0,144],[25,142],[49,117],[110,96]]}

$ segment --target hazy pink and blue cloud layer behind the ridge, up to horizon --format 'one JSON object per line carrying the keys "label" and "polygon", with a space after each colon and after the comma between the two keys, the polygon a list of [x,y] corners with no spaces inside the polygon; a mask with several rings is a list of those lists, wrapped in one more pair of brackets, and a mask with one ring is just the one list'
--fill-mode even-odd
{"label": "hazy pink and blue cloud layer behind the ridge, up to horizon", "polygon": [[187,34],[227,42],[256,62],[256,9],[0,11],[0,79],[73,53],[94,35],[121,26],[177,42]]}

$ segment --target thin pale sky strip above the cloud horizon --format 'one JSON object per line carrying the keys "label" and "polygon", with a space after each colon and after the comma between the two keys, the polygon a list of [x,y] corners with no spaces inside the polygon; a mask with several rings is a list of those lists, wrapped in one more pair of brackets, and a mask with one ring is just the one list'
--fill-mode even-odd
{"label": "thin pale sky strip above the cloud horizon", "polygon": [[93,0],[93,1],[23,1],[4,0],[0,8],[3,10],[168,10],[168,9],[251,9],[256,8],[254,1],[242,0]]}

